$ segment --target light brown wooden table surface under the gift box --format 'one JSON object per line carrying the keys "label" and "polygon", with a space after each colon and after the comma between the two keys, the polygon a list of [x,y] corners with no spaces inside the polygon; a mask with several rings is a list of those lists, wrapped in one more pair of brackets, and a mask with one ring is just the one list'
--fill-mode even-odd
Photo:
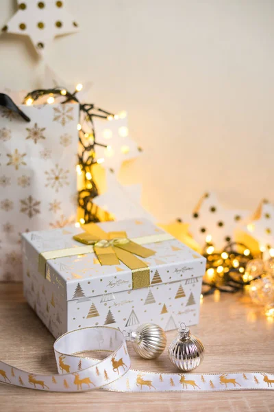
{"label": "light brown wooden table surface under the gift box", "polygon": [[[0,284],[0,359],[36,373],[56,373],[53,336],[25,302],[21,284]],[[206,347],[199,372],[274,372],[274,323],[243,295],[205,297],[199,326],[191,328]],[[175,331],[168,332],[168,341]],[[144,361],[133,350],[132,367],[174,372],[166,352]],[[271,412],[274,391],[208,393],[49,393],[0,384],[0,410],[108,412]]]}

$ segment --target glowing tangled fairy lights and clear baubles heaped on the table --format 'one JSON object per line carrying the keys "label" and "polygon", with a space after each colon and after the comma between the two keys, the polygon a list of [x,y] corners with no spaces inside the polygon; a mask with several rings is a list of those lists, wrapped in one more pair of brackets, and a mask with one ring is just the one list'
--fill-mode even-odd
{"label": "glowing tangled fairy lights and clear baubles heaped on the table", "polygon": [[256,255],[240,242],[229,242],[222,251],[215,251],[212,237],[206,238],[203,248],[206,274],[203,277],[203,296],[246,291],[253,304],[263,308],[269,321],[274,319],[274,257],[263,260],[262,250]]}

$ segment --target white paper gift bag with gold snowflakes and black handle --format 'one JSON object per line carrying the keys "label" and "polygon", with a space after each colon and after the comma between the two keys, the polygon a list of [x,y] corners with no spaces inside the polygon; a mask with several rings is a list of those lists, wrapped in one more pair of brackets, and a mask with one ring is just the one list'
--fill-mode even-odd
{"label": "white paper gift bag with gold snowflakes and black handle", "polygon": [[0,106],[0,281],[22,279],[21,233],[69,225],[77,210],[79,104],[10,107]]}

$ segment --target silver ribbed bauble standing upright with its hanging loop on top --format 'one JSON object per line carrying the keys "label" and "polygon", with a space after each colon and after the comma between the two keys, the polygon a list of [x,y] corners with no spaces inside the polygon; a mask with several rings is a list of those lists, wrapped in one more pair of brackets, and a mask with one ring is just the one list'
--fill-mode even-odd
{"label": "silver ribbed bauble standing upright with its hanging loop on top", "polygon": [[192,371],[203,361],[204,353],[203,343],[191,335],[189,328],[181,323],[177,338],[169,345],[171,363],[181,371]]}

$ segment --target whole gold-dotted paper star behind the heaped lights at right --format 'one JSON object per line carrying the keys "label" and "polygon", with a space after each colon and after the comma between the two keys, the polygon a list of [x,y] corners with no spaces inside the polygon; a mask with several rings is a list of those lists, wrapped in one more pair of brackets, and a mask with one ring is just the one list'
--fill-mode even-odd
{"label": "whole gold-dotted paper star behind the heaped lights at right", "polygon": [[208,241],[218,251],[235,240],[235,230],[247,216],[249,211],[225,209],[216,194],[206,193],[192,215],[182,220],[190,223],[189,231],[201,247]]}

